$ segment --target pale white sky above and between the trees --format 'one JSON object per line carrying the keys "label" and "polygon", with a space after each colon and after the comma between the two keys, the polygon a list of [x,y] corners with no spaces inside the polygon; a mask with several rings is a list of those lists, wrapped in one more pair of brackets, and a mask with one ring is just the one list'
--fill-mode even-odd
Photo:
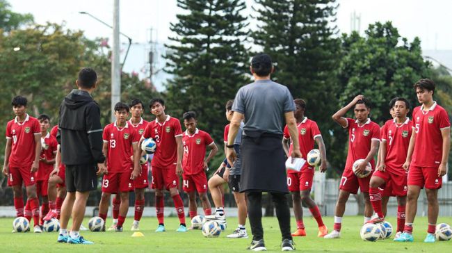
{"label": "pale white sky above and between the trees", "polygon": [[[88,38],[111,38],[112,29],[100,24],[87,15],[86,11],[108,24],[113,24],[113,0],[9,0],[13,11],[31,13],[38,23],[66,23],[67,28],[85,31]],[[245,0],[250,12],[252,0]],[[337,26],[341,33],[350,32],[350,15],[354,11],[361,16],[360,31],[370,23],[391,20],[405,38],[421,38],[422,48],[452,50],[452,1],[449,0],[339,0]],[[140,72],[147,62],[150,28],[154,29],[153,39],[168,42],[170,22],[176,22],[175,0],[127,0],[120,1],[120,31],[131,37],[134,44],[124,65],[127,72]],[[127,40],[121,36],[121,48],[127,47]],[[163,54],[163,49],[158,49]],[[163,63],[158,63],[159,65]],[[159,76],[160,75],[160,76]],[[163,72],[156,76],[155,83],[161,90]]]}

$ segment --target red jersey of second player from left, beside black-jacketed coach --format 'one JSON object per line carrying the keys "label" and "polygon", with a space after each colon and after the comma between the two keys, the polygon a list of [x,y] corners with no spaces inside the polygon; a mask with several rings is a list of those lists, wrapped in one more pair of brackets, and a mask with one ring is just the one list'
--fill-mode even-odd
{"label": "red jersey of second player from left, beside black-jacketed coach", "polygon": [[[56,146],[58,143],[56,142],[56,138],[51,136],[50,133],[47,133],[46,136],[41,137],[41,156],[42,158],[46,158],[47,160],[51,160],[55,158],[56,154]],[[54,170],[53,164],[47,164],[44,162],[39,162],[39,170],[36,174],[38,181],[49,180],[50,172]]]}

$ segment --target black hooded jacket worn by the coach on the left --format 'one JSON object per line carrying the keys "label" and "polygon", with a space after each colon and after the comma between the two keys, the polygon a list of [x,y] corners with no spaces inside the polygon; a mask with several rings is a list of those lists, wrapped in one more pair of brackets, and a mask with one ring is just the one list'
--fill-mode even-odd
{"label": "black hooded jacket worn by the coach on the left", "polygon": [[65,165],[104,163],[100,108],[84,90],[72,90],[60,106],[58,142]]}

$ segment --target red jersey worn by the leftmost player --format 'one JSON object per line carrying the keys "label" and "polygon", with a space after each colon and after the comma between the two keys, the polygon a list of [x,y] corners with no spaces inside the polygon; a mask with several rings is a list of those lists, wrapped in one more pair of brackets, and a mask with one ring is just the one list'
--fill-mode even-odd
{"label": "red jersey worn by the leftmost player", "polygon": [[35,135],[41,134],[41,126],[35,117],[28,114],[24,122],[17,122],[17,117],[6,125],[6,138],[12,139],[10,167],[31,167],[35,160]]}

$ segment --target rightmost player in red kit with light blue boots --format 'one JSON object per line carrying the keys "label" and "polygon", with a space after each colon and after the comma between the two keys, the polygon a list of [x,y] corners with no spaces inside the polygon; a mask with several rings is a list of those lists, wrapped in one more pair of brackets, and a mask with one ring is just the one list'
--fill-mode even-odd
{"label": "rightmost player in red kit with light blue boots", "polygon": [[438,218],[438,190],[442,176],[447,172],[451,147],[451,122],[446,110],[433,101],[435,83],[420,79],[414,84],[421,106],[413,110],[414,131],[403,168],[408,171],[406,222],[403,233],[396,241],[413,241],[414,216],[421,188],[426,188],[428,202],[428,230],[424,242],[435,243]]}

